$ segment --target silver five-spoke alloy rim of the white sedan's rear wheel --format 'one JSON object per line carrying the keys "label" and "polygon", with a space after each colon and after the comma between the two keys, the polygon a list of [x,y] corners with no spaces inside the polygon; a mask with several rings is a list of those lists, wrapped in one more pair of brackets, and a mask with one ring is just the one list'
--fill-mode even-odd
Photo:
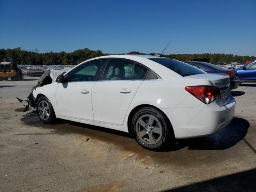
{"label": "silver five-spoke alloy rim of the white sedan's rear wheel", "polygon": [[152,115],[142,115],[136,122],[136,132],[146,144],[156,144],[162,138],[162,126]]}

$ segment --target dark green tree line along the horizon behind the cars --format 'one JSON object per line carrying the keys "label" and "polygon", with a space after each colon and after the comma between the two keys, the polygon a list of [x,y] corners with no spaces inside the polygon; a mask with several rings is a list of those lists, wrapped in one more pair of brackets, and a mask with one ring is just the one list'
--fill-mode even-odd
{"label": "dark green tree line along the horizon behind the cars", "polygon": [[[124,53],[123,53],[124,54]],[[126,54],[144,54],[137,51],[131,51]],[[153,55],[155,53],[150,53]],[[0,49],[0,55],[12,55],[17,59],[17,64],[29,64],[29,65],[76,65],[85,60],[110,55],[104,54],[100,50],[90,50],[88,48],[78,49],[73,52],[47,52],[39,53],[37,49],[27,51],[22,50],[20,47],[14,49]],[[230,64],[231,62],[246,62],[256,60],[255,56],[238,56],[233,54],[219,54],[219,53],[204,53],[204,54],[163,54],[162,56],[180,60],[190,61],[192,58],[208,58],[213,64],[225,62]]]}

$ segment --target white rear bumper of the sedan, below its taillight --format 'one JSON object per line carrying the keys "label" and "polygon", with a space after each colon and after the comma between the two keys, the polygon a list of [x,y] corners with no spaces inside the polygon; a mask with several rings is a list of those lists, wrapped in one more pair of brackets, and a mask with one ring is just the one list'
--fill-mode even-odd
{"label": "white rear bumper of the sedan, below its taillight", "polygon": [[167,115],[177,139],[207,136],[227,126],[234,117],[236,101],[233,97],[225,106],[216,102],[194,108],[162,109]]}

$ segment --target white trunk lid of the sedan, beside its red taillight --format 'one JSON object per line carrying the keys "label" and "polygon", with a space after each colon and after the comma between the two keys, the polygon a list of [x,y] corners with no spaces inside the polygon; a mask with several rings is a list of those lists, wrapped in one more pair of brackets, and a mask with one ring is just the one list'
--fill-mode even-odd
{"label": "white trunk lid of the sedan, beside its red taillight", "polygon": [[228,104],[231,98],[230,92],[230,77],[223,75],[215,74],[197,74],[186,76],[186,78],[196,78],[196,79],[205,79],[210,85],[220,88],[220,99],[217,99],[216,102],[218,106],[224,106]]}

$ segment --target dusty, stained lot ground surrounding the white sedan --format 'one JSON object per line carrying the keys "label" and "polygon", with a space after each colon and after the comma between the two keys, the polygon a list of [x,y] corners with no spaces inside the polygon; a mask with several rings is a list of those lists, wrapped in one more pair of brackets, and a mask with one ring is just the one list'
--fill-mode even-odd
{"label": "dusty, stained lot ground surrounding the white sedan", "polygon": [[26,115],[16,96],[37,79],[0,82],[0,191],[255,191],[256,84],[232,91],[226,128],[153,152],[123,132]]}

